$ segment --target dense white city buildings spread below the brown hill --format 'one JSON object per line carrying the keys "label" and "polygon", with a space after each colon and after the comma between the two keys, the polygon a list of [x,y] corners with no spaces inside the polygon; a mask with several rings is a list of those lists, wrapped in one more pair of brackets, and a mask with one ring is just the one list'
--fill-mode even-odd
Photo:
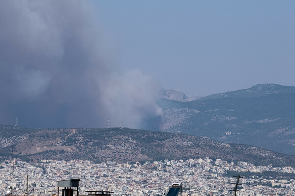
{"label": "dense white city buildings spread below the brown hill", "polygon": [[[0,163],[1,195],[11,192],[12,160]],[[29,176],[29,195],[57,194],[57,181],[81,179],[79,195],[85,191],[113,191],[115,196],[164,196],[172,183],[183,184],[183,196],[228,196],[236,183],[232,173],[250,173],[240,179],[237,196],[292,196],[295,192],[295,173],[292,167],[255,166],[247,162],[220,159],[165,160],[145,163],[93,163],[85,160],[42,160],[31,165],[14,160],[14,195],[26,190]],[[280,177],[259,176],[259,173],[279,172]],[[251,175],[253,173],[253,175]],[[283,178],[282,176],[287,176]]]}

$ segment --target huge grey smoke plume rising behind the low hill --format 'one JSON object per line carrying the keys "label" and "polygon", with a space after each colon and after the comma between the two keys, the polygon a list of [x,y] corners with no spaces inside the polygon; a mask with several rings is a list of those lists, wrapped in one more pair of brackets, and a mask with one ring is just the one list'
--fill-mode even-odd
{"label": "huge grey smoke plume rising behind the low hill", "polygon": [[145,128],[161,115],[151,77],[114,72],[88,2],[0,4],[1,124]]}

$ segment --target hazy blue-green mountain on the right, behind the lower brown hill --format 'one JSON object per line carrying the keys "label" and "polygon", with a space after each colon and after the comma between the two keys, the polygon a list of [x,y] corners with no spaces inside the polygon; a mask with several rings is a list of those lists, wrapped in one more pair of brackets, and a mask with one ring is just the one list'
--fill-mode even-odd
{"label": "hazy blue-green mountain on the right, behind the lower brown hill", "polygon": [[258,84],[193,101],[161,99],[160,129],[295,154],[295,87]]}

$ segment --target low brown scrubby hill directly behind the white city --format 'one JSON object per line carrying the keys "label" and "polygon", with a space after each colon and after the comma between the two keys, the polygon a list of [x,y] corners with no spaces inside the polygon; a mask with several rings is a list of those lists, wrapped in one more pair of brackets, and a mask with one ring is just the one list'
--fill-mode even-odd
{"label": "low brown scrubby hill directly behind the white city", "polygon": [[210,157],[257,165],[295,166],[295,156],[292,155],[176,133],[128,128],[38,131],[19,128],[13,129],[18,133],[13,141],[7,137],[5,130],[0,129],[1,136],[6,138],[2,142],[7,144],[0,149],[2,156],[11,154],[14,144],[15,155],[29,161],[82,159],[95,162],[144,162]]}

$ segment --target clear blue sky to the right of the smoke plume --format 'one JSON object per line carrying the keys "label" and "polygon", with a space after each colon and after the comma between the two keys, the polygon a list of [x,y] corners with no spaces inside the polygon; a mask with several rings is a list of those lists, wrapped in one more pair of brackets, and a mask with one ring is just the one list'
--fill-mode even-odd
{"label": "clear blue sky to the right of the smoke plume", "polygon": [[295,86],[294,0],[93,1],[118,69],[188,96]]}

